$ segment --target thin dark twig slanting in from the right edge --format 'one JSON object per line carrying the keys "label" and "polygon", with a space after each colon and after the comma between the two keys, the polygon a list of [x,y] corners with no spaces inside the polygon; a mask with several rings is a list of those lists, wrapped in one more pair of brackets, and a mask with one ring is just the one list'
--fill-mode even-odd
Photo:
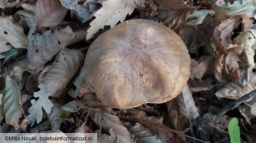
{"label": "thin dark twig slanting in from the right edge", "polygon": [[224,115],[225,113],[227,113],[229,110],[234,109],[235,107],[237,107],[238,105],[240,105],[241,103],[243,103],[245,100],[250,99],[251,97],[256,95],[256,90],[252,90],[250,93],[245,94],[244,96],[242,96],[241,98],[239,98],[238,100],[235,100],[233,103],[228,104],[227,106],[225,106],[224,108],[222,108],[217,114],[214,115],[214,120],[216,120],[217,118],[219,118],[220,116]]}

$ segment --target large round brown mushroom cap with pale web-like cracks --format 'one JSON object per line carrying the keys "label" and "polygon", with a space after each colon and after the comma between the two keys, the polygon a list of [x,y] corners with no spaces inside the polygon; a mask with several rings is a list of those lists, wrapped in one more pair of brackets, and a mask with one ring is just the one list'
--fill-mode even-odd
{"label": "large round brown mushroom cap with pale web-like cracks", "polygon": [[152,20],[128,20],[101,34],[84,61],[85,79],[100,100],[113,108],[164,103],[189,78],[185,44],[168,27]]}

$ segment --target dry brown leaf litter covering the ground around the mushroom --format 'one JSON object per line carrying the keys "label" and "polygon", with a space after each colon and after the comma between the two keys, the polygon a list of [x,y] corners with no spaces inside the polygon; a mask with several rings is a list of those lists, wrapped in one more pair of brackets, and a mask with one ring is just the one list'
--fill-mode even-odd
{"label": "dry brown leaf litter covering the ground around the mushroom", "polygon": [[[0,133],[228,143],[221,130],[236,117],[241,140],[256,142],[255,96],[215,118],[256,89],[255,0],[1,0],[0,8]],[[90,90],[82,65],[96,37],[131,19],[174,30],[189,50],[191,69],[175,99],[119,110]]]}

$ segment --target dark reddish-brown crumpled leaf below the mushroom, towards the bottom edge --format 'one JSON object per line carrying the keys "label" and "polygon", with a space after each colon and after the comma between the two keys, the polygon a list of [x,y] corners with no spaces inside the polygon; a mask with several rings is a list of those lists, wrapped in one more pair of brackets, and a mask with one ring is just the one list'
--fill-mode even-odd
{"label": "dark reddish-brown crumpled leaf below the mushroom, towards the bottom edge", "polygon": [[150,130],[152,133],[160,136],[168,143],[182,143],[182,139],[176,134],[177,132],[171,128],[165,126],[162,121],[162,117],[147,116],[146,113],[141,111],[138,115],[127,115],[126,117],[120,117],[121,119],[130,123],[140,123],[142,126]]}

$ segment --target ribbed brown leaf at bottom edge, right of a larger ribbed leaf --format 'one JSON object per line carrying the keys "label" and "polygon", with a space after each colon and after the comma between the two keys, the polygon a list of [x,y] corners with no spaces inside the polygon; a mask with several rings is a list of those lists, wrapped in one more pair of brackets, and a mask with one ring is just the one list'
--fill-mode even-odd
{"label": "ribbed brown leaf at bottom edge, right of a larger ribbed leaf", "polygon": [[161,137],[154,135],[150,130],[140,125],[139,123],[131,124],[129,122],[123,123],[129,132],[137,137],[137,143],[166,143]]}

